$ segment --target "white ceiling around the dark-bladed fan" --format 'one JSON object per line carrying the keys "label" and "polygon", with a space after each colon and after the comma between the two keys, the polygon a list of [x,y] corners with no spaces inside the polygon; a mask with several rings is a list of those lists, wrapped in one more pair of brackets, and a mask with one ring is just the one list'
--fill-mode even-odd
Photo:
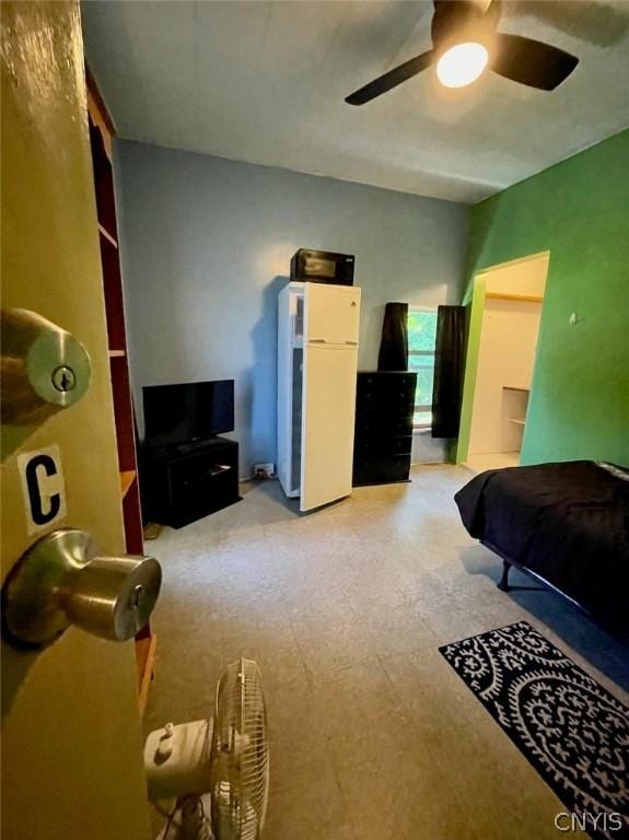
{"label": "white ceiling around the dark-bladed fan", "polygon": [[430,48],[432,3],[83,3],[88,60],[119,135],[475,202],[629,125],[629,0],[511,0],[500,28],[579,56],[552,93],[428,70],[343,97]]}

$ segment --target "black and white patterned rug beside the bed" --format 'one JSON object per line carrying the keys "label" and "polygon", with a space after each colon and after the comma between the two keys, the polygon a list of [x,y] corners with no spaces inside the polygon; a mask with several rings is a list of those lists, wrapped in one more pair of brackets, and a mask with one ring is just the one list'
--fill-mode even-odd
{"label": "black and white patterned rug beside the bed", "polygon": [[626,705],[526,621],[440,651],[587,833],[629,838]]}

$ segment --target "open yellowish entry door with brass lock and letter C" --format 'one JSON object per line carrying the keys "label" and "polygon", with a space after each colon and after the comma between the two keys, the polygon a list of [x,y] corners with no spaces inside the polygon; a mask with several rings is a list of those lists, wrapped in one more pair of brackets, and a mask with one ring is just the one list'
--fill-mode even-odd
{"label": "open yellowish entry door with brass lock and letter C", "polygon": [[[78,3],[3,3],[1,59],[2,306],[73,334],[92,366],[75,405],[2,429],[4,581],[38,536],[25,453],[58,447],[65,515],[54,528],[85,529],[109,555],[124,552],[124,533]],[[69,628],[40,651],[2,642],[3,837],[150,837],[136,684],[132,641]]]}

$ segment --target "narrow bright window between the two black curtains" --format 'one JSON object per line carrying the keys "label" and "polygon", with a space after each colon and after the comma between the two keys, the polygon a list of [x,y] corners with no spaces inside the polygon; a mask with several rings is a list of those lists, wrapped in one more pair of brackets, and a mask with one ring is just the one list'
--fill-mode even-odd
{"label": "narrow bright window between the two black curtains", "polygon": [[408,370],[417,373],[413,429],[428,429],[432,423],[432,380],[436,310],[408,310]]}

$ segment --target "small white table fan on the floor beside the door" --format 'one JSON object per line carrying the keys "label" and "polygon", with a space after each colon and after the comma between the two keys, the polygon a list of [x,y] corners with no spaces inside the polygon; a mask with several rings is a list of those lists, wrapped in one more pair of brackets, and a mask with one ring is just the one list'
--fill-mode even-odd
{"label": "small white table fan on the floor beside the door", "polygon": [[269,789],[258,665],[240,658],[225,668],[213,719],[168,723],[151,732],[144,767],[151,802],[176,798],[161,840],[258,840]]}

